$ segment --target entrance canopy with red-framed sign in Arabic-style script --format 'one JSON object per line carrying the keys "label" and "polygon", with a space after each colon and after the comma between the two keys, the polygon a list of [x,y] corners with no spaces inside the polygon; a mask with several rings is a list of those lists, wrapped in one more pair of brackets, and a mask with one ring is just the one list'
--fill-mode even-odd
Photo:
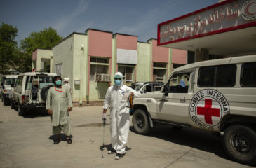
{"label": "entrance canopy with red-framed sign in Arabic-style script", "polygon": [[158,45],[210,55],[256,52],[256,0],[227,0],[158,25]]}

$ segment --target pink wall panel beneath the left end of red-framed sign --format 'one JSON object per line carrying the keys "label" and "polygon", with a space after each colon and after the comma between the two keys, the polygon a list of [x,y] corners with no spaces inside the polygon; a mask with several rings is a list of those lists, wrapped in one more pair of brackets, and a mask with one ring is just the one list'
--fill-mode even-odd
{"label": "pink wall panel beneath the left end of red-framed sign", "polygon": [[152,40],[152,62],[169,62],[169,48],[157,46],[156,40]]}

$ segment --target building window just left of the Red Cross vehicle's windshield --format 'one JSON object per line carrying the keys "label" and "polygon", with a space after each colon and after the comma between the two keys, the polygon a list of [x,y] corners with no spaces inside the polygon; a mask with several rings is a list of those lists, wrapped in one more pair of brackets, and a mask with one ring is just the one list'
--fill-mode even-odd
{"label": "building window just left of the Red Cross vehicle's windshield", "polygon": [[166,76],[166,63],[153,63],[153,81],[154,82],[163,82]]}

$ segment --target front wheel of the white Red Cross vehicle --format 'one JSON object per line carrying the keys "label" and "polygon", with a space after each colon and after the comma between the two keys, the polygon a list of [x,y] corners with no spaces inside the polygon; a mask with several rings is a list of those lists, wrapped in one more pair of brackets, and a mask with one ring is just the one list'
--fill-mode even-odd
{"label": "front wheel of the white Red Cross vehicle", "polygon": [[142,109],[136,109],[133,113],[133,127],[138,134],[147,135],[150,132],[147,113]]}

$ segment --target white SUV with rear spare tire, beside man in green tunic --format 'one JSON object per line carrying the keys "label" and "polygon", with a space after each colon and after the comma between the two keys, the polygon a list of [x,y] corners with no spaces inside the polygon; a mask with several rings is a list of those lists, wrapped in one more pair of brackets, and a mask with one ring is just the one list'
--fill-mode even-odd
{"label": "white SUV with rear spare tire, beside man in green tunic", "polygon": [[24,115],[29,109],[45,109],[48,90],[52,87],[56,73],[20,73],[15,83],[11,107],[18,105],[18,114]]}

